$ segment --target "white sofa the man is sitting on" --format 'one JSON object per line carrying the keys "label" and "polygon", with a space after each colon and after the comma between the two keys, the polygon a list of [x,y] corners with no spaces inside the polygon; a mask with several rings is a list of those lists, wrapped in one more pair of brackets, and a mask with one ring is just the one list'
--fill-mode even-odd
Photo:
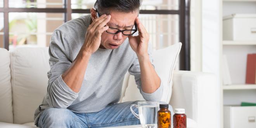
{"label": "white sofa the man is sitting on", "polygon": [[[48,58],[48,48],[0,48],[0,128],[35,128],[34,112],[47,92]],[[126,95],[138,93],[134,84],[133,76],[126,74],[120,101],[140,99]],[[188,127],[217,128],[216,91],[213,74],[174,71],[170,104],[185,108],[187,118],[196,122]]]}

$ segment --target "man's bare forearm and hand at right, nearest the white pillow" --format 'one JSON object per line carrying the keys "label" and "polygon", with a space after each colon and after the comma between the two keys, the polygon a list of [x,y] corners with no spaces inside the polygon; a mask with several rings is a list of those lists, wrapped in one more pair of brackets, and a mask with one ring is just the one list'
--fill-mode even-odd
{"label": "man's bare forearm and hand at right, nearest the white pillow", "polygon": [[140,78],[142,91],[153,93],[160,87],[161,80],[152,66],[148,54],[149,33],[138,19],[135,19],[138,27],[138,36],[129,36],[131,48],[135,51],[140,65]]}

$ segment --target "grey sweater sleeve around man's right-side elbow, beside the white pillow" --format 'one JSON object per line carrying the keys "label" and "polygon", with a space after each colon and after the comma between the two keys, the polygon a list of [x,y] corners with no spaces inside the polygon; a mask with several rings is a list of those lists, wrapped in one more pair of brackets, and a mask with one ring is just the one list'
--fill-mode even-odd
{"label": "grey sweater sleeve around man's right-side elbow, beside the white pillow", "polygon": [[[149,48],[148,48],[148,54],[149,54],[149,59],[151,64],[154,67],[153,64],[153,58],[152,58],[152,52],[151,52],[151,45],[149,43]],[[159,88],[157,88],[157,90],[153,93],[145,93],[142,91],[142,84],[141,84],[141,78],[140,78],[140,64],[138,62],[138,57],[135,54],[135,59],[133,61],[133,63],[131,64],[131,67],[129,69],[129,73],[131,75],[134,75],[135,77],[135,82],[137,84],[137,88],[140,90],[140,93],[142,94],[143,98],[147,101],[160,101],[162,98],[162,93],[163,93],[163,85],[162,82],[160,83]]]}

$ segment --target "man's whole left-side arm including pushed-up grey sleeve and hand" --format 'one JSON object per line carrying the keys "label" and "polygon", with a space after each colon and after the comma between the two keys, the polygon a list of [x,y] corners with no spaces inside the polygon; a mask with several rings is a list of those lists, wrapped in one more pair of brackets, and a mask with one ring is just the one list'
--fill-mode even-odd
{"label": "man's whole left-side arm including pushed-up grey sleeve and hand", "polygon": [[101,33],[106,31],[110,16],[102,15],[87,29],[85,43],[73,62],[69,60],[65,35],[55,30],[49,47],[50,71],[47,76],[47,96],[55,108],[67,108],[78,97],[90,56],[100,46]]}

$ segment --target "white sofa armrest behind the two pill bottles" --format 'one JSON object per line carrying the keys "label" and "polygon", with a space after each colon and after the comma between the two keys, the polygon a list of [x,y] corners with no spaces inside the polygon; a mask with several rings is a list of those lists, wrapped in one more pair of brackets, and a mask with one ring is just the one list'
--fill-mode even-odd
{"label": "white sofa armrest behind the two pill bottles", "polygon": [[214,74],[174,71],[170,104],[184,108],[187,118],[197,122],[197,128],[218,127],[217,79]]}

